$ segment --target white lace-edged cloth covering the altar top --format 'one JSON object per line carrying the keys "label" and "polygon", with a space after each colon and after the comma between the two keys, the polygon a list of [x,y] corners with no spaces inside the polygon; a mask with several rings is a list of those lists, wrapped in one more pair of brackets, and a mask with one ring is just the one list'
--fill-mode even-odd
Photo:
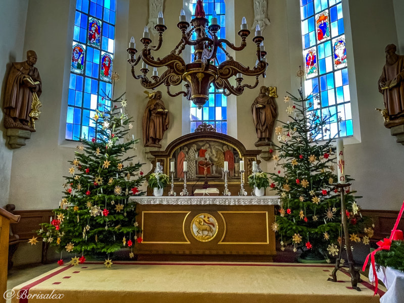
{"label": "white lace-edged cloth covering the altar top", "polygon": [[147,205],[279,205],[279,196],[131,196],[129,201]]}

